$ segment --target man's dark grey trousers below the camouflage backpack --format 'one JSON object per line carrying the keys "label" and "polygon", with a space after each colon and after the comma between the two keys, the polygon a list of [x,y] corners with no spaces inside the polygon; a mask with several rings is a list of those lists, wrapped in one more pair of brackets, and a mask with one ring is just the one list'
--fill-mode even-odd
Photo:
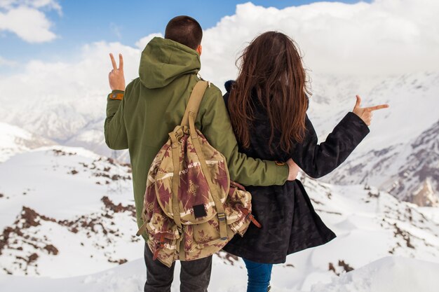
{"label": "man's dark grey trousers below the camouflage backpack", "polygon": [[[152,260],[152,258],[153,254],[145,244],[144,261],[147,265],[147,282],[144,285],[144,292],[170,292],[175,263],[167,267],[160,260]],[[207,292],[212,271],[212,256],[180,263],[182,265],[180,292]]]}

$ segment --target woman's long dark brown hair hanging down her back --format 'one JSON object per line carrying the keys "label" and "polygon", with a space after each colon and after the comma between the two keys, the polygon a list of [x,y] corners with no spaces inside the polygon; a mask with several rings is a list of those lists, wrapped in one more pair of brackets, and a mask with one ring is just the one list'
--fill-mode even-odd
{"label": "woman's long dark brown hair hanging down her back", "polygon": [[255,106],[252,98],[257,96],[271,125],[269,145],[276,129],[281,132],[281,150],[291,151],[293,141],[300,142],[304,138],[306,93],[309,94],[302,57],[295,42],[280,32],[265,32],[245,48],[240,60],[239,75],[228,101],[238,141],[244,148],[250,146]]}

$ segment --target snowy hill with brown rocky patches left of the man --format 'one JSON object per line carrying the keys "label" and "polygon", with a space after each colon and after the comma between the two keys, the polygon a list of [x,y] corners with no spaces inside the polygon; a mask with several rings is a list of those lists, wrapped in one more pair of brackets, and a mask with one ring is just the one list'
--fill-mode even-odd
{"label": "snowy hill with brown rocky patches left of the man", "polygon": [[142,251],[128,165],[53,146],[15,155],[0,177],[1,273],[68,277]]}

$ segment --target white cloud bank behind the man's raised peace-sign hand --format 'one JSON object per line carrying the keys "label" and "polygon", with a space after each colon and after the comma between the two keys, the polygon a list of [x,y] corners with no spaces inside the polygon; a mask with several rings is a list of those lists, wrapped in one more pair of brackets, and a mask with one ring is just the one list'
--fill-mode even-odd
{"label": "white cloud bank behind the man's raised peace-sign hand", "polygon": [[21,103],[25,99],[77,102],[90,96],[105,95],[110,90],[108,73],[112,63],[109,53],[123,54],[127,83],[137,76],[139,50],[121,43],[91,43],[83,46],[68,62],[32,60],[21,73],[0,78],[2,91],[13,97],[7,98],[6,103]]}

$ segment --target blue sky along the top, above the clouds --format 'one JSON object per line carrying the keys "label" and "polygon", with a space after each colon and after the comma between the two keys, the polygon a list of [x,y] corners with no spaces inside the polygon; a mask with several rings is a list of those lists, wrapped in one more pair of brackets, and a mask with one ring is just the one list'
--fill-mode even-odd
{"label": "blue sky along the top, above the clouds", "polygon": [[[330,0],[331,1],[331,0]],[[61,13],[55,9],[40,9],[52,23],[50,31],[56,38],[42,43],[29,43],[13,32],[1,30],[0,57],[18,63],[31,59],[65,60],[86,43],[119,41],[128,46],[143,36],[163,32],[175,15],[191,15],[203,29],[215,26],[225,15],[235,13],[236,4],[247,1],[121,1],[121,0],[60,0]],[[254,0],[253,4],[276,8],[299,6],[316,1]],[[358,0],[339,0],[356,3]],[[370,2],[370,1],[367,1]],[[0,8],[1,12],[1,8]]]}

